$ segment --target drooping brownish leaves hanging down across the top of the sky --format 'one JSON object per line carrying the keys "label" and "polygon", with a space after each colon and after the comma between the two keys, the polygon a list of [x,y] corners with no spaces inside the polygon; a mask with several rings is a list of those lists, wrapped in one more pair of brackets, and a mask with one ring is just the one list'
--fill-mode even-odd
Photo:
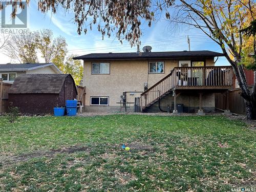
{"label": "drooping brownish leaves hanging down across the top of the sky", "polygon": [[[27,3],[30,0],[26,1]],[[150,0],[39,0],[38,9],[41,12],[52,11],[56,13],[58,7],[62,7],[66,11],[74,12],[74,21],[77,24],[77,33],[87,33],[88,29],[92,29],[93,25],[97,25],[98,31],[108,37],[115,34],[122,41],[126,39],[131,45],[139,44],[139,38],[142,34],[140,26],[146,21],[148,26],[154,19],[154,13],[150,11]],[[19,0],[11,1],[14,9],[12,16],[15,16],[17,7],[24,7]],[[3,4],[0,2],[0,8]]]}

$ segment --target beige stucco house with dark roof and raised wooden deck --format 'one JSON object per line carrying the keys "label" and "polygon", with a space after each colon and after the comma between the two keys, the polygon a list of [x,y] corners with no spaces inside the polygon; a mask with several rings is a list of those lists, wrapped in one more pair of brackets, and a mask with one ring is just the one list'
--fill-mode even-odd
{"label": "beige stucco house with dark roof and raised wooden deck", "polygon": [[73,59],[83,60],[86,111],[120,111],[122,102],[136,98],[135,105],[144,112],[177,113],[215,111],[215,93],[232,88],[231,67],[215,66],[220,56],[212,51],[145,50]]}

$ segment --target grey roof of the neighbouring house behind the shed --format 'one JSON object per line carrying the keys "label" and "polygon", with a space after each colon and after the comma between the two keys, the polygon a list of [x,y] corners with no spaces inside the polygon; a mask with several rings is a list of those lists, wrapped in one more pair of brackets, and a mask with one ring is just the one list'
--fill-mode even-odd
{"label": "grey roof of the neighbouring house behind the shed", "polygon": [[47,66],[52,66],[58,72],[61,73],[61,71],[53,63],[20,63],[20,64],[7,63],[7,64],[0,64],[0,72],[1,71],[29,71],[29,70],[33,70],[33,69],[44,68],[44,67],[47,67]]}

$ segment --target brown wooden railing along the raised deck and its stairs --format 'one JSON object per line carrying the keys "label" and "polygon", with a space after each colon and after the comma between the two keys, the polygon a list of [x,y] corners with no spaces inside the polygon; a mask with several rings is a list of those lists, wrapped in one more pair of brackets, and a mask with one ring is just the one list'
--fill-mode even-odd
{"label": "brown wooden railing along the raised deck and its stairs", "polygon": [[142,109],[174,89],[227,89],[232,86],[231,66],[176,67],[141,94]]}

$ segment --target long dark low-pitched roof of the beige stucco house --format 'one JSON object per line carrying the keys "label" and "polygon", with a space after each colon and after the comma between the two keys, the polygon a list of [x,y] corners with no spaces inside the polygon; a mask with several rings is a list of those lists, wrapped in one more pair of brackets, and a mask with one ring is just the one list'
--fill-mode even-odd
{"label": "long dark low-pitched roof of the beige stucco house", "polygon": [[141,52],[138,53],[91,53],[74,57],[73,59],[101,60],[101,59],[150,59],[150,58],[193,58],[193,57],[217,57],[223,53],[214,51],[168,51],[168,52]]}

